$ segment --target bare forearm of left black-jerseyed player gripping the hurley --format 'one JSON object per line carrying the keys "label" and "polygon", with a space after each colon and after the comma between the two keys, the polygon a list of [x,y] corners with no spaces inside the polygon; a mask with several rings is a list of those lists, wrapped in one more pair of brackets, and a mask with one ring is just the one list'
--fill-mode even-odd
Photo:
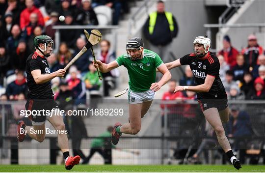
{"label": "bare forearm of left black-jerseyed player gripping the hurley", "polygon": [[37,70],[31,71],[31,74],[36,84],[44,84],[46,82],[51,81],[55,77],[63,77],[65,72],[66,71],[64,69],[59,69],[50,74],[41,74],[41,70],[37,69]]}

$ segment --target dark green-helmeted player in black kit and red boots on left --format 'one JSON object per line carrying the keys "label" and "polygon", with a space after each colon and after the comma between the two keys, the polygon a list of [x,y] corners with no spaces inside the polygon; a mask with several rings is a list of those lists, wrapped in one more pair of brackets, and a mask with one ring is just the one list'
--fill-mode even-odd
{"label": "dark green-helmeted player in black kit and red boots on left", "polygon": [[[36,36],[33,42],[36,50],[26,61],[28,88],[26,110],[31,111],[32,115],[29,118],[33,126],[27,126],[24,121],[19,121],[17,138],[19,142],[23,142],[27,134],[30,138],[40,143],[43,142],[47,130],[44,122],[47,119],[58,135],[58,144],[63,152],[65,168],[71,170],[73,166],[79,163],[80,157],[69,156],[67,131],[65,130],[63,118],[59,115],[57,103],[53,99],[51,88],[51,80],[55,77],[63,77],[66,71],[59,69],[50,73],[46,58],[53,52],[51,37],[47,35]],[[57,111],[55,111],[56,109]],[[36,112],[42,110],[45,112]],[[35,111],[35,114],[33,114],[33,111]],[[50,111],[50,113],[46,113],[46,111]]]}

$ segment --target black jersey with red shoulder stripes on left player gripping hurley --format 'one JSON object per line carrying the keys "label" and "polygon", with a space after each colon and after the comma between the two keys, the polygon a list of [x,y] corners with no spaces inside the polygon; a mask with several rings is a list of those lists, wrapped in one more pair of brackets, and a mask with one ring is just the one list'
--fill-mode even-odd
{"label": "black jersey with red shoulder stripes on left player gripping hurley", "polygon": [[41,74],[49,74],[50,68],[47,59],[34,52],[29,55],[26,61],[27,73],[27,99],[53,99],[51,81],[44,84],[36,84],[31,74],[33,70],[40,70]]}

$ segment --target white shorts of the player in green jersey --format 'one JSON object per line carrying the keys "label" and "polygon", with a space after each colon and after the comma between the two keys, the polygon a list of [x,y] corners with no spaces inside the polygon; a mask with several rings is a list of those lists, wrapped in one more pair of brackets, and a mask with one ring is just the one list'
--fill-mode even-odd
{"label": "white shorts of the player in green jersey", "polygon": [[128,103],[129,104],[138,104],[143,102],[149,102],[154,99],[156,92],[151,89],[143,92],[134,92],[129,88],[128,92]]}

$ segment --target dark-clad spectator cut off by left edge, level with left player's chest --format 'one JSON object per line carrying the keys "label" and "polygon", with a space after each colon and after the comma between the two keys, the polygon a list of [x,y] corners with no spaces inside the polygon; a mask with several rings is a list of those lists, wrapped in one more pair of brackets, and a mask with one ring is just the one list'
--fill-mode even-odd
{"label": "dark-clad spectator cut off by left edge, level with left player's chest", "polygon": [[0,87],[3,86],[3,79],[8,70],[10,70],[11,57],[6,53],[5,47],[0,43]]}

